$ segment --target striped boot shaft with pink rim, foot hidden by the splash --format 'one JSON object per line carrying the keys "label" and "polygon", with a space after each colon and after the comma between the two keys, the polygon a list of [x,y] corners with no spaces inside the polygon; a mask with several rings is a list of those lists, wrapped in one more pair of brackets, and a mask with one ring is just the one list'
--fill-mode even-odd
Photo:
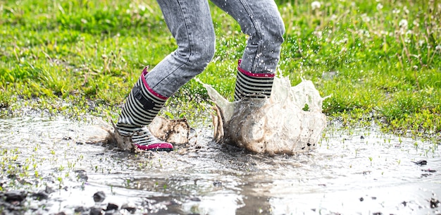
{"label": "striped boot shaft with pink rim, foot hidden by the splash", "polygon": [[263,99],[270,97],[273,88],[274,74],[250,73],[237,66],[235,101],[247,98]]}

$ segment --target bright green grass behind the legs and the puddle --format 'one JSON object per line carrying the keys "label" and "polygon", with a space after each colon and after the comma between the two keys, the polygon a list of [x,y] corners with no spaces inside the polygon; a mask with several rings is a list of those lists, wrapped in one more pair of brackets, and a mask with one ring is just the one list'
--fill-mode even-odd
{"label": "bright green grass behind the legs and the puddle", "polygon": [[[323,97],[332,94],[324,112],[347,125],[374,120],[396,133],[440,133],[440,1],[331,0],[316,9],[311,3],[278,1],[286,27],[282,74],[293,85],[306,78]],[[232,18],[211,9],[217,51],[198,78],[232,99],[246,37]],[[73,102],[78,113],[91,111],[92,101],[99,104],[92,112],[116,118],[143,66],[154,67],[175,49],[151,0],[8,0],[0,11],[4,109],[37,99],[35,108],[75,115],[59,101]],[[207,99],[192,80],[170,100],[178,107],[170,114],[191,115]]]}

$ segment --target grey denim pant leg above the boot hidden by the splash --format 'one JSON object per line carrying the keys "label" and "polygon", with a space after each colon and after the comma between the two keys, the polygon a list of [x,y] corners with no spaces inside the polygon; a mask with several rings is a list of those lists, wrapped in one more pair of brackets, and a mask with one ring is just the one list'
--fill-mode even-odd
{"label": "grey denim pant leg above the boot hidden by the splash", "polygon": [[211,0],[249,35],[240,68],[251,73],[275,73],[285,25],[274,0]]}

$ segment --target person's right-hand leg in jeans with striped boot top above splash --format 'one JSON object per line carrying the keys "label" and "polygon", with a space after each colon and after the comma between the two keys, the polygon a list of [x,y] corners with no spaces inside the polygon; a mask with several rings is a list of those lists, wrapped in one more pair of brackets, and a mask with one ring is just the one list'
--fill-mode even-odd
{"label": "person's right-hand leg in jeans with striped boot top above splash", "polygon": [[249,35],[237,67],[235,100],[269,97],[285,25],[273,0],[211,0]]}

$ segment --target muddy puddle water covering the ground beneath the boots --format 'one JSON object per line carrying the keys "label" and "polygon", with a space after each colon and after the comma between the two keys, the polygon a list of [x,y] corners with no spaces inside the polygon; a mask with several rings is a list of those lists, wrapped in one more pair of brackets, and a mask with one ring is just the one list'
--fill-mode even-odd
{"label": "muddy puddle water covering the ground beneath the boots", "polygon": [[[93,123],[93,122],[92,122]],[[434,142],[330,124],[316,150],[268,157],[211,142],[196,128],[174,152],[130,154],[82,142],[89,123],[0,118],[1,187],[35,193],[20,214],[89,214],[108,203],[135,214],[439,214]],[[413,161],[427,161],[417,165]],[[103,202],[93,195],[103,191]],[[127,214],[115,210],[108,214]]]}

